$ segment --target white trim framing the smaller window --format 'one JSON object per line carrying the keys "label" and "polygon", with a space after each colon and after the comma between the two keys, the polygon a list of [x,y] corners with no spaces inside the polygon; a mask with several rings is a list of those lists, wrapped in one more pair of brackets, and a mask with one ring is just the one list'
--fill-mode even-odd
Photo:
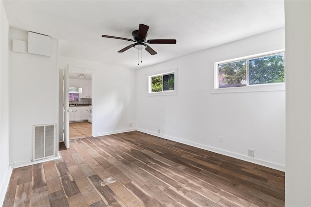
{"label": "white trim framing the smaller window", "polygon": [[[171,91],[160,91],[160,92],[151,92],[151,77],[161,76],[166,74],[174,74],[174,90]],[[152,73],[147,75],[147,96],[168,96],[168,95],[177,95],[177,68],[171,70],[165,70],[158,73]]]}

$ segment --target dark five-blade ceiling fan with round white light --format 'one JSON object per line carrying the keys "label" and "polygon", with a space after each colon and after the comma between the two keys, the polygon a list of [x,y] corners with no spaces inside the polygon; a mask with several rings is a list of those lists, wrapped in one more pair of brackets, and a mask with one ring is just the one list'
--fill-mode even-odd
{"label": "dark five-blade ceiling fan with round white light", "polygon": [[133,48],[136,48],[138,50],[145,49],[151,55],[155,55],[156,51],[145,43],[149,43],[149,44],[176,44],[176,40],[173,40],[173,39],[155,39],[155,40],[147,40],[146,41],[148,29],[149,29],[149,26],[144,25],[144,24],[139,24],[138,30],[135,30],[132,32],[134,40],[128,39],[128,38],[123,38],[123,37],[108,36],[108,35],[102,35],[102,37],[136,42],[132,45],[129,45],[129,46],[119,50],[118,52],[124,52],[124,51],[128,50],[129,48],[133,47]]}

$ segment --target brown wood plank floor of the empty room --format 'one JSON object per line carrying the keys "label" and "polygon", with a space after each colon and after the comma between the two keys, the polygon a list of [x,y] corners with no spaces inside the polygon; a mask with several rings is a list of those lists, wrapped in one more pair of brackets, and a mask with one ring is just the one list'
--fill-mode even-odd
{"label": "brown wood plank floor of the empty room", "polygon": [[3,207],[282,207],[284,173],[127,132],[70,141],[13,170]]}

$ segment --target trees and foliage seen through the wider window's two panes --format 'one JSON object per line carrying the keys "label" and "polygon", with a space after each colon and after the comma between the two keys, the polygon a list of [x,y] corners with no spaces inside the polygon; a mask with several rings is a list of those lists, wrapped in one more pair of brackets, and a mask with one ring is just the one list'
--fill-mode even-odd
{"label": "trees and foliage seen through the wider window's two panes", "polygon": [[284,53],[216,64],[218,88],[284,83]]}

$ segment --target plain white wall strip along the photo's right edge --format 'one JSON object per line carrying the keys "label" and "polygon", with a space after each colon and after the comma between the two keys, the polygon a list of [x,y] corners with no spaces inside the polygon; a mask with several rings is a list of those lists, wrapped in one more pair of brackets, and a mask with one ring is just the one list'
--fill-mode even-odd
{"label": "plain white wall strip along the photo's right edge", "polygon": [[311,206],[311,1],[285,1],[285,206]]}

